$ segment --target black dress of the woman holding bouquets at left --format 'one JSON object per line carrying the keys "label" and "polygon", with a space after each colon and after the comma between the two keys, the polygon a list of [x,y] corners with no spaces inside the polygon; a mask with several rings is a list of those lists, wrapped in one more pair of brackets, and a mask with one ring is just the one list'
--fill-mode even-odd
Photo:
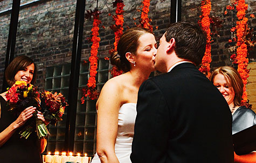
{"label": "black dress of the woman holding bouquets at left", "polygon": [[[17,117],[9,112],[7,102],[0,95],[1,102],[1,118],[0,118],[0,132],[5,130]],[[32,132],[29,138],[20,138],[19,131],[22,127],[10,137],[0,147],[0,162],[33,162],[41,163],[42,158],[39,151],[39,141],[36,132]]]}

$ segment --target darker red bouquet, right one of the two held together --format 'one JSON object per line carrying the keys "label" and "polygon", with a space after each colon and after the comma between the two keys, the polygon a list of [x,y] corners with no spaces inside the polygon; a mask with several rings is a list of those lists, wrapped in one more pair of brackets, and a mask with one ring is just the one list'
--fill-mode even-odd
{"label": "darker red bouquet, right one of the two held together", "polygon": [[65,97],[61,93],[55,92],[54,94],[49,91],[44,91],[40,94],[41,112],[45,120],[51,124],[56,124],[57,121],[62,120],[65,107],[68,106]]}

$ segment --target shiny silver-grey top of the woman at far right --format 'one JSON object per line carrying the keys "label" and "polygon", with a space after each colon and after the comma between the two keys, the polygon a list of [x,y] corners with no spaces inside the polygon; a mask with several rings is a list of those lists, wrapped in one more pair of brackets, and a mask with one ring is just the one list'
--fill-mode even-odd
{"label": "shiny silver-grey top of the woman at far right", "polygon": [[252,109],[248,109],[245,106],[240,106],[233,114],[232,121],[232,134],[247,129],[256,124],[256,114]]}

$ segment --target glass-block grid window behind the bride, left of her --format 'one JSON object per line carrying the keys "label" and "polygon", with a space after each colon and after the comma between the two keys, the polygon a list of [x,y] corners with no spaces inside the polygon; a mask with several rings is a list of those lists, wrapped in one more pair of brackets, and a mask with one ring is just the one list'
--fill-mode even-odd
{"label": "glass-block grid window behind the bride, left of her", "polygon": [[[104,58],[98,60],[96,87],[100,91],[103,85],[111,78],[109,62]],[[81,104],[81,88],[87,85],[89,78],[89,63],[81,63],[79,76],[79,91],[77,101],[77,117],[75,123],[74,153],[93,155],[96,151],[96,100],[86,99]],[[68,99],[70,79],[70,64],[57,65],[46,68],[45,90],[61,92]],[[63,121],[57,125],[48,125],[50,136],[47,141],[47,152],[64,151],[66,113]]]}

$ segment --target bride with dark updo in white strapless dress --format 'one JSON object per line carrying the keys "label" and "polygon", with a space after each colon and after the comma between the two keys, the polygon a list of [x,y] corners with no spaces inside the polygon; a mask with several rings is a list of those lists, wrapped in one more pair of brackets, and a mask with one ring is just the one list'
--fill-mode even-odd
{"label": "bride with dark updo in white strapless dress", "polygon": [[130,28],[121,36],[110,61],[125,73],[103,86],[97,120],[97,152],[92,163],[131,162],[137,93],[155,70],[156,40],[146,29]]}

